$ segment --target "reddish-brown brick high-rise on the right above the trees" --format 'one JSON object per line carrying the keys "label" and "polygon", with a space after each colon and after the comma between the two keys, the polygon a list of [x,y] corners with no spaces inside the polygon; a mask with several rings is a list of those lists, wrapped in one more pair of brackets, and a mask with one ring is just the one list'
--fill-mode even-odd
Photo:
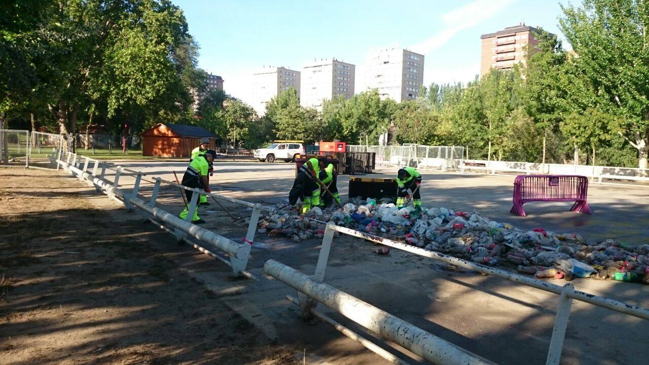
{"label": "reddish-brown brick high-rise on the right above the trees", "polygon": [[525,63],[528,51],[533,52],[539,40],[535,37],[541,31],[519,23],[502,31],[482,34],[482,60],[480,77],[493,69],[509,69],[519,62]]}

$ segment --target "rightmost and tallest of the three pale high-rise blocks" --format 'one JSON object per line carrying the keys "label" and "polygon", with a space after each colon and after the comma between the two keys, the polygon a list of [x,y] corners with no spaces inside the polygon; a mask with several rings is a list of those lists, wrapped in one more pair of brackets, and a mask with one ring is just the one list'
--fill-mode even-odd
{"label": "rightmost and tallest of the three pale high-rise blocks", "polygon": [[367,55],[365,88],[378,89],[382,99],[397,103],[419,95],[424,80],[424,55],[401,48],[376,49]]}

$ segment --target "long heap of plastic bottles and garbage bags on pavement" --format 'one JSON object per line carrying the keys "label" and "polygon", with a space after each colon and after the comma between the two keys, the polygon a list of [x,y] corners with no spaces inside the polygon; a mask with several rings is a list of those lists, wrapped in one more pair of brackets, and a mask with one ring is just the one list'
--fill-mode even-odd
{"label": "long heap of plastic bottles and garbage bags on pavement", "polygon": [[[579,234],[538,228],[522,231],[478,214],[448,208],[398,209],[389,199],[353,198],[342,208],[314,207],[306,214],[288,204],[260,220],[260,233],[295,242],[322,238],[326,222],[399,240],[489,266],[512,266],[539,278],[612,279],[649,284],[649,245],[630,247],[615,240],[589,243]],[[337,234],[337,232],[336,232]]]}

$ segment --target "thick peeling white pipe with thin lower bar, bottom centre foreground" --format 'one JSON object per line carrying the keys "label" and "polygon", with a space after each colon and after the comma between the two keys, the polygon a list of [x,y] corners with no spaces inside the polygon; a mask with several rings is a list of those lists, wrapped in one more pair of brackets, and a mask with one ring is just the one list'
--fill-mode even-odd
{"label": "thick peeling white pipe with thin lower bar, bottom centre foreground", "polygon": [[489,360],[482,359],[478,355],[457,347],[342,290],[323,284],[321,280],[312,279],[308,275],[276,260],[266,261],[263,265],[263,272],[297,290],[299,299],[290,296],[287,299],[291,303],[299,305],[302,308],[302,314],[307,319],[309,316],[316,316],[395,364],[406,363],[378,346],[370,346],[371,342],[367,340],[359,340],[360,336],[336,323],[331,318],[324,316],[321,312],[317,312],[314,309],[315,304],[318,302],[323,303],[326,307],[336,310],[386,340],[390,340],[434,364],[494,365]]}

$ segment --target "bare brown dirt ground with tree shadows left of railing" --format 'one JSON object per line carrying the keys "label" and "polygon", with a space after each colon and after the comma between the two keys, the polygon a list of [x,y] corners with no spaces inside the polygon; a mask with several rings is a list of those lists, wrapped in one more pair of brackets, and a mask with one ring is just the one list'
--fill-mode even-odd
{"label": "bare brown dirt ground with tree shadows left of railing", "polygon": [[297,364],[177,270],[201,254],[67,179],[0,169],[0,364]]}

